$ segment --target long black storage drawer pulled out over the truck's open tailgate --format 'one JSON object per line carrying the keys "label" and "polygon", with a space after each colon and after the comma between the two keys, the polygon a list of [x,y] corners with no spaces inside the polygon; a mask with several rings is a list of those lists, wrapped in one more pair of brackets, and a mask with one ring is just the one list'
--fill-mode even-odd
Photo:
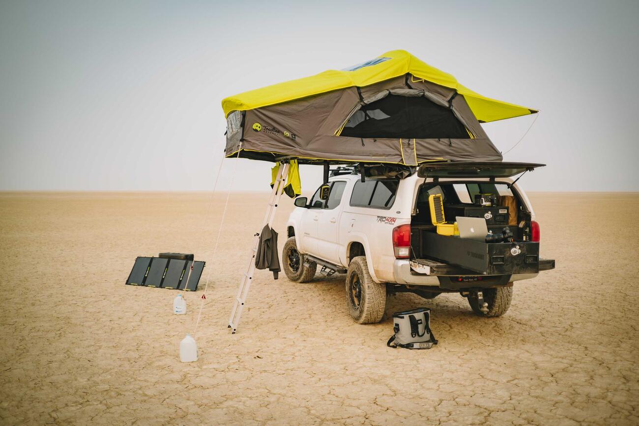
{"label": "long black storage drawer pulled out over the truck's open tailgate", "polygon": [[421,234],[422,256],[426,258],[459,265],[482,275],[539,272],[538,242],[486,243],[428,231]]}

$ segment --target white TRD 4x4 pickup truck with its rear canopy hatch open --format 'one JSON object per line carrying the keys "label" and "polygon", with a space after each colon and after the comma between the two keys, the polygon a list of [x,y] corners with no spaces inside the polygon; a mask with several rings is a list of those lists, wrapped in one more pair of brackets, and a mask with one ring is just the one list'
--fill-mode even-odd
{"label": "white TRD 4x4 pickup truck with its rear canopy hatch open", "polygon": [[[511,179],[536,166],[429,163],[403,179],[388,173],[362,179],[357,168],[339,168],[328,179],[326,199],[321,187],[310,201],[296,198],[284,272],[297,283],[311,281],[318,266],[326,275],[346,273],[346,302],[358,323],[380,321],[387,294],[399,291],[425,298],[456,292],[477,314],[500,316],[511,304],[514,281],[555,267],[539,258],[539,224]],[[508,226],[511,238],[488,243],[440,235],[431,195],[441,195],[448,226],[455,217],[479,216],[489,233],[501,237]]]}

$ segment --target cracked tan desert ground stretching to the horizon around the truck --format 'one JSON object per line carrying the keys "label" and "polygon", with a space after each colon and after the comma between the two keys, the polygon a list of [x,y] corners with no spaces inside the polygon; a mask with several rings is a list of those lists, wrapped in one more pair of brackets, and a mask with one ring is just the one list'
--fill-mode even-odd
{"label": "cracked tan desert ground stretching to the horizon around the truck", "polygon": [[[516,283],[501,318],[458,294],[389,297],[357,325],[344,275],[295,284],[258,271],[227,318],[268,194],[0,193],[0,420],[86,424],[639,423],[639,195],[532,193],[557,268]],[[286,201],[275,230],[284,244]],[[390,242],[389,242],[390,243]],[[188,312],[176,291],[125,286],[136,256],[206,260]],[[200,358],[181,364],[192,332]],[[440,344],[389,349],[390,314],[426,306]]]}

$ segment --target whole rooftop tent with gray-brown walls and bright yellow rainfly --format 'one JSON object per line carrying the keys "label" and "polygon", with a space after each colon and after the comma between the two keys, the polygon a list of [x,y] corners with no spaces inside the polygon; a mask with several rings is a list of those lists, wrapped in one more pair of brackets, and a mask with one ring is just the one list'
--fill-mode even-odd
{"label": "whole rooftop tent with gray-brown walls and bright yellow rainfly", "polygon": [[227,157],[412,166],[500,161],[480,122],[537,112],[485,98],[404,50],[231,96],[222,108]]}

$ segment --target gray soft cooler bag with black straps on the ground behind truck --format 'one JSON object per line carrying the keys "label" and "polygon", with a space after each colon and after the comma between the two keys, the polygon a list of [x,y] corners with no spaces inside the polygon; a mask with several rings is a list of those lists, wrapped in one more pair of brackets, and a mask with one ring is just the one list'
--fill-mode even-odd
{"label": "gray soft cooler bag with black straps on the ground behind truck", "polygon": [[427,307],[395,312],[393,322],[395,334],[387,342],[390,348],[430,349],[437,344],[431,331],[431,310]]}

